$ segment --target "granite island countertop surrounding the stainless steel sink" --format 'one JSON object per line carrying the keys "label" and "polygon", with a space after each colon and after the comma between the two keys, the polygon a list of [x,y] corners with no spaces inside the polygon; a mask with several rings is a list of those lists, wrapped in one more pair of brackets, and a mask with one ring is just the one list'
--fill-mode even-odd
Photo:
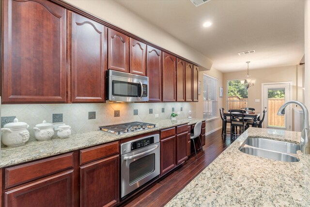
{"label": "granite island countertop surrounding the stainless steel sink", "polygon": [[240,152],[251,136],[300,142],[300,132],[250,127],[166,206],[310,206],[310,155],[282,162]]}

